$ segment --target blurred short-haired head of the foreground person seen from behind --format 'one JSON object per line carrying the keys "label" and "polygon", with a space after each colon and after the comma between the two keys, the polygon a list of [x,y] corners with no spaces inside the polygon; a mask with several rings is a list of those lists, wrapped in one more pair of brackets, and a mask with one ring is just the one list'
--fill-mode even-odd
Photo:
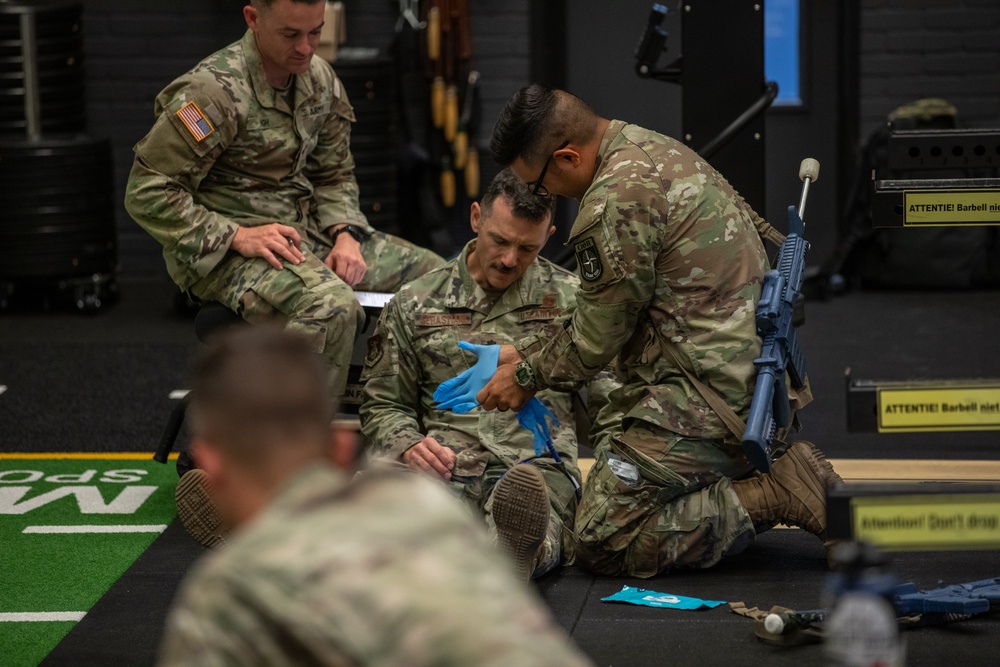
{"label": "blurred short-haired head of the foreground person seen from behind", "polygon": [[280,327],[233,327],[199,354],[191,377],[191,454],[223,519],[252,518],[304,466],[347,468],[355,436],[331,428],[328,371]]}

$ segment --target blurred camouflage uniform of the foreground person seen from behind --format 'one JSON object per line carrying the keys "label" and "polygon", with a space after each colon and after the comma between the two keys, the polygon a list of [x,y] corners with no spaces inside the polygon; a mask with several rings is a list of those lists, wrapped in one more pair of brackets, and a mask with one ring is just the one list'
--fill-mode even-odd
{"label": "blurred camouflage uniform of the foreground person seen from behind", "polygon": [[590,662],[438,485],[320,465],[195,566],[160,664]]}

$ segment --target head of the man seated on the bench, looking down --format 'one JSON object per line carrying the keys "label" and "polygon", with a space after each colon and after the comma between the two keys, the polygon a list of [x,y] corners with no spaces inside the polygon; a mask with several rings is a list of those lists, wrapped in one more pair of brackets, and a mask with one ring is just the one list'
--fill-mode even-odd
{"label": "head of the man seated on the bench, looking down", "polygon": [[272,83],[309,69],[319,46],[325,6],[322,0],[251,0],[243,8]]}

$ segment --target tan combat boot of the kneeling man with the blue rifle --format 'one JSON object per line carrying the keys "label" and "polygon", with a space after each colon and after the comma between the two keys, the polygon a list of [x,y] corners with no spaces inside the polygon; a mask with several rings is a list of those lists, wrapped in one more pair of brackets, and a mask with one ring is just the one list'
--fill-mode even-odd
{"label": "tan combat boot of the kneeling man with the blue rifle", "polygon": [[826,543],[826,488],[840,475],[823,453],[796,442],[774,462],[771,472],[733,482],[733,491],[754,524],[799,526]]}

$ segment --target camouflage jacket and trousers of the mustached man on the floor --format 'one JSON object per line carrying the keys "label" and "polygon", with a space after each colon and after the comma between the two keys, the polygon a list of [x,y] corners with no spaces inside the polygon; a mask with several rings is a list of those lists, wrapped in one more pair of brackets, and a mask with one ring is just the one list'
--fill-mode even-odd
{"label": "camouflage jacket and trousers of the mustached man on the floor", "polygon": [[[552,440],[565,468],[548,454],[535,457],[531,433],[517,423],[514,413],[440,410],[434,390],[475,362],[472,354],[459,349],[460,340],[530,345],[555,335],[579,281],[539,258],[499,298],[491,297],[469,275],[466,260],[474,247],[471,241],[457,259],[405,285],[382,311],[361,376],[366,381],[362,432],[383,456],[394,460],[402,460],[425,436],[450,448],[456,456],[450,485],[485,513],[491,533],[496,483],[512,465],[530,460],[542,471],[549,490],[548,532],[534,567],[534,575],[540,576],[557,566],[562,555],[572,559],[564,547],[571,545],[577,503],[573,482],[580,483],[580,470],[569,392],[579,385],[560,385],[538,395],[559,419]],[[607,440],[619,427],[621,414],[607,401],[608,393],[619,386],[605,371],[587,387],[595,443]]]}

